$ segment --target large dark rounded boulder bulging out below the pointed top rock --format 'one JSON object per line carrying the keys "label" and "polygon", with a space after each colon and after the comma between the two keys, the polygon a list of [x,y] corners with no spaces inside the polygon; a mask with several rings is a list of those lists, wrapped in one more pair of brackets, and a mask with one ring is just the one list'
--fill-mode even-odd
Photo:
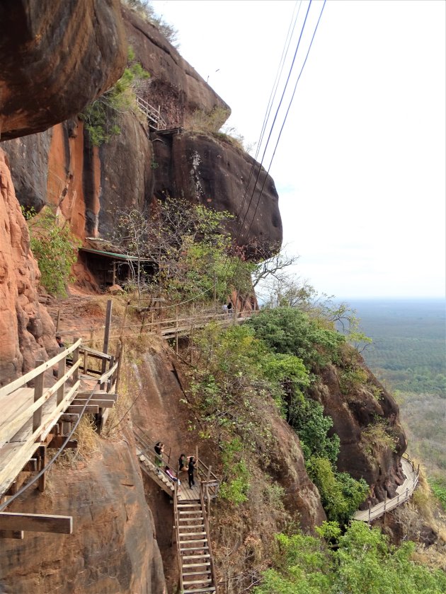
{"label": "large dark rounded boulder bulging out below the pointed top rock", "polygon": [[234,216],[227,227],[236,245],[268,257],[282,243],[273,178],[229,141],[193,132],[154,135],[155,195],[183,198]]}

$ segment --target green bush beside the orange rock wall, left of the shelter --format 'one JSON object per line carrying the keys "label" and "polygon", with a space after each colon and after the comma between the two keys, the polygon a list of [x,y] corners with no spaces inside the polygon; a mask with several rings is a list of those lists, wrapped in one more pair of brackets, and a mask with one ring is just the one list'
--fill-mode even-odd
{"label": "green bush beside the orange rock wall, left of the shelter", "polygon": [[57,216],[48,207],[38,215],[28,211],[25,218],[30,230],[31,250],[39,264],[40,283],[52,295],[65,296],[81,242],[69,231],[67,224],[59,226]]}

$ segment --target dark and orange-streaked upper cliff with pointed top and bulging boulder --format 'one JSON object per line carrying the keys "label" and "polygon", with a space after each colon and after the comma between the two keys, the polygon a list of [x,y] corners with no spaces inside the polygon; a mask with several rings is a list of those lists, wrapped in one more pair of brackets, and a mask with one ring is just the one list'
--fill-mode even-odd
{"label": "dark and orange-streaked upper cliff with pointed top and bulging boulder", "polygon": [[[122,8],[127,40],[151,73],[142,97],[161,107],[168,128],[187,127],[195,110],[227,109],[158,30]],[[229,110],[228,110],[229,113]],[[122,133],[93,147],[81,122],[4,142],[19,202],[40,211],[54,204],[79,238],[106,236],[118,209],[148,210],[166,194],[227,210],[230,231],[249,255],[282,241],[278,194],[247,153],[204,134],[149,134],[141,115],[120,115]],[[247,187],[251,168],[253,180]],[[249,205],[249,206],[248,206]]]}

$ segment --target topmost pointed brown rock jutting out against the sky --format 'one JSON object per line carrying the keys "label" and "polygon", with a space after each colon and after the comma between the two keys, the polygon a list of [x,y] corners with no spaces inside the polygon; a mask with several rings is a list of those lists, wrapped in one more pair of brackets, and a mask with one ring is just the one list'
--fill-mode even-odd
{"label": "topmost pointed brown rock jutting out against the sky", "polygon": [[184,126],[195,110],[211,112],[215,107],[231,110],[206,81],[181,57],[159,30],[122,6],[129,45],[142,66],[150,72],[151,83],[144,99],[161,107],[168,128]]}

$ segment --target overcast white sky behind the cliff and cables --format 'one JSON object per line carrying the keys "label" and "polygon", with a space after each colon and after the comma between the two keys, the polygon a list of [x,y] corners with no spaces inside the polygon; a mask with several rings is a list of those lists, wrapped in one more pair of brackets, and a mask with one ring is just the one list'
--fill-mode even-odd
{"label": "overcast white sky behind the cliff and cables", "polygon": [[[183,57],[231,106],[229,124],[258,141],[299,2],[152,4],[179,30]],[[321,6],[310,7],[292,86]],[[295,272],[319,291],[445,294],[445,6],[326,3],[270,170],[284,241],[300,256]]]}

